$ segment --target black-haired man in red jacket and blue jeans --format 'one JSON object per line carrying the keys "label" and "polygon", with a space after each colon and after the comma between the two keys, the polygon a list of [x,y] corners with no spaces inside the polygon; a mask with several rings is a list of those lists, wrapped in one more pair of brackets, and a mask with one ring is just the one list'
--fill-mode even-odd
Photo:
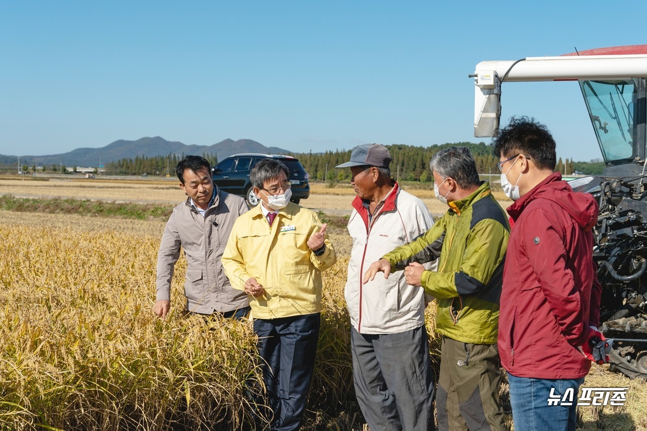
{"label": "black-haired man in red jacket and blue jeans", "polygon": [[[512,118],[494,140],[501,188],[514,200],[499,311],[515,430],[575,430],[577,392],[591,368],[600,316],[593,263],[598,204],[554,172],[555,142],[542,124]],[[505,299],[504,299],[505,298]],[[552,393],[551,393],[552,390]],[[573,405],[551,397],[573,393]],[[558,404],[558,405],[554,405]]]}

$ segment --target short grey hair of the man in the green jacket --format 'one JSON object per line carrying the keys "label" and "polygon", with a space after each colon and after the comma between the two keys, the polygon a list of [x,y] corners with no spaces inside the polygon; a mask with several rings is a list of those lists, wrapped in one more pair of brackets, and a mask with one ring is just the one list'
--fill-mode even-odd
{"label": "short grey hair of the man in the green jacket", "polygon": [[429,162],[432,172],[441,177],[452,177],[461,188],[479,185],[476,161],[467,147],[450,147],[435,153]]}

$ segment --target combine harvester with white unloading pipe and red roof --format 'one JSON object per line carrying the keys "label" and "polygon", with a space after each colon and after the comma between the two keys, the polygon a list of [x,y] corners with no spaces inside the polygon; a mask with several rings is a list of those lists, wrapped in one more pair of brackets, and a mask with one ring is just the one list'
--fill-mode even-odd
{"label": "combine harvester with white unloading pipe and red roof", "polygon": [[647,379],[647,45],[481,61],[470,77],[475,137],[497,135],[504,83],[579,83],[605,164],[602,175],[571,182],[600,203],[593,232],[600,330],[615,338],[611,368]]}

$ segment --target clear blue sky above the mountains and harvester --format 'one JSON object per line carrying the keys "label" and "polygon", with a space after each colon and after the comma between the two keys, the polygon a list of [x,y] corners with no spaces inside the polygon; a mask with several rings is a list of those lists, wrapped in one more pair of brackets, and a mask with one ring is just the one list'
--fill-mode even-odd
{"label": "clear blue sky above the mountains and harvester", "polygon": [[[0,153],[153,136],[296,152],[490,142],[473,137],[476,64],[645,43],[647,2],[614,5],[3,0]],[[536,117],[558,156],[601,157],[576,83],[508,83],[501,100],[502,124]]]}

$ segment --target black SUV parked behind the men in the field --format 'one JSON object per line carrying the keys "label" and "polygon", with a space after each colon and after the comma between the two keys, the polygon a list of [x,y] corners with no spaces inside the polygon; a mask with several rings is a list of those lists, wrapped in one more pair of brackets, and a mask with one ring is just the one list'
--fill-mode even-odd
{"label": "black SUV parked behind the men in the field", "polygon": [[303,169],[299,159],[285,155],[254,153],[232,155],[214,167],[214,182],[225,192],[243,196],[250,206],[256,206],[259,199],[252,191],[253,187],[249,181],[249,171],[260,160],[268,158],[281,160],[290,171],[288,177],[292,182],[292,197],[290,200],[294,203],[299,203],[301,199],[307,199],[310,195],[309,175]]}

